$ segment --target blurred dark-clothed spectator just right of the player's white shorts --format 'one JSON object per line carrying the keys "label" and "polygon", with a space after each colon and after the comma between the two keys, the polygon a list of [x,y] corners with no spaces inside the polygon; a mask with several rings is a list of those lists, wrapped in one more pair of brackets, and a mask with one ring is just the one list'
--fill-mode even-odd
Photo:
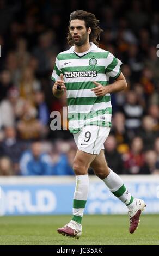
{"label": "blurred dark-clothed spectator just right of the player's white shorts", "polygon": [[109,135],[105,141],[105,156],[108,166],[117,174],[123,174],[124,166],[121,155],[117,151],[117,142],[113,135]]}

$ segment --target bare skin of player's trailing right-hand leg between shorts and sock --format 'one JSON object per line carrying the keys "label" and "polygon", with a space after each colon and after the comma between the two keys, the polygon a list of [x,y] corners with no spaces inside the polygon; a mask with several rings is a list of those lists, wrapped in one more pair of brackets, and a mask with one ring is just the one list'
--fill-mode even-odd
{"label": "bare skin of player's trailing right-hand leg between shorts and sock", "polygon": [[99,155],[96,155],[95,159],[91,162],[90,167],[93,168],[94,173],[108,172],[108,164],[105,159],[104,150],[100,151]]}

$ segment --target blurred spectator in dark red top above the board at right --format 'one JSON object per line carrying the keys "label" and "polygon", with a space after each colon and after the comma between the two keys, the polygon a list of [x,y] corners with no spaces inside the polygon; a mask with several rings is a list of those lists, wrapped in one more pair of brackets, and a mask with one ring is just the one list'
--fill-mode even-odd
{"label": "blurred spectator in dark red top above the board at right", "polygon": [[139,174],[144,165],[143,141],[135,137],[131,143],[131,149],[123,155],[125,174]]}

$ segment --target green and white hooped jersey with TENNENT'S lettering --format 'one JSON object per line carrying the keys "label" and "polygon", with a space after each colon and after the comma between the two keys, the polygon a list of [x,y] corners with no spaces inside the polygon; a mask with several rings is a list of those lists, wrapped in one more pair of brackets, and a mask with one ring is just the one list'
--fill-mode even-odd
{"label": "green and white hooped jersey with TENNENT'S lettering", "polygon": [[77,133],[85,125],[111,126],[110,94],[97,97],[90,89],[95,87],[93,81],[107,86],[109,77],[118,78],[121,64],[93,43],[82,56],[74,52],[74,46],[58,54],[51,78],[57,81],[64,75],[70,132]]}

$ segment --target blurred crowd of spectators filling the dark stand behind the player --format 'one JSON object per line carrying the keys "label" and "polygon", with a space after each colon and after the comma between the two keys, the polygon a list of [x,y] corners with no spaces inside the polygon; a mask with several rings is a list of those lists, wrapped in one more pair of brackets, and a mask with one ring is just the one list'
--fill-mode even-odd
{"label": "blurred crowd of spectators filling the dark stand behind the player", "polygon": [[62,114],[66,106],[65,95],[52,95],[51,74],[57,54],[69,48],[69,15],[78,9],[100,19],[99,46],[123,62],[128,84],[111,95],[109,167],[118,174],[159,174],[156,1],[0,0],[0,175],[74,174],[73,137],[50,129],[50,113]]}

